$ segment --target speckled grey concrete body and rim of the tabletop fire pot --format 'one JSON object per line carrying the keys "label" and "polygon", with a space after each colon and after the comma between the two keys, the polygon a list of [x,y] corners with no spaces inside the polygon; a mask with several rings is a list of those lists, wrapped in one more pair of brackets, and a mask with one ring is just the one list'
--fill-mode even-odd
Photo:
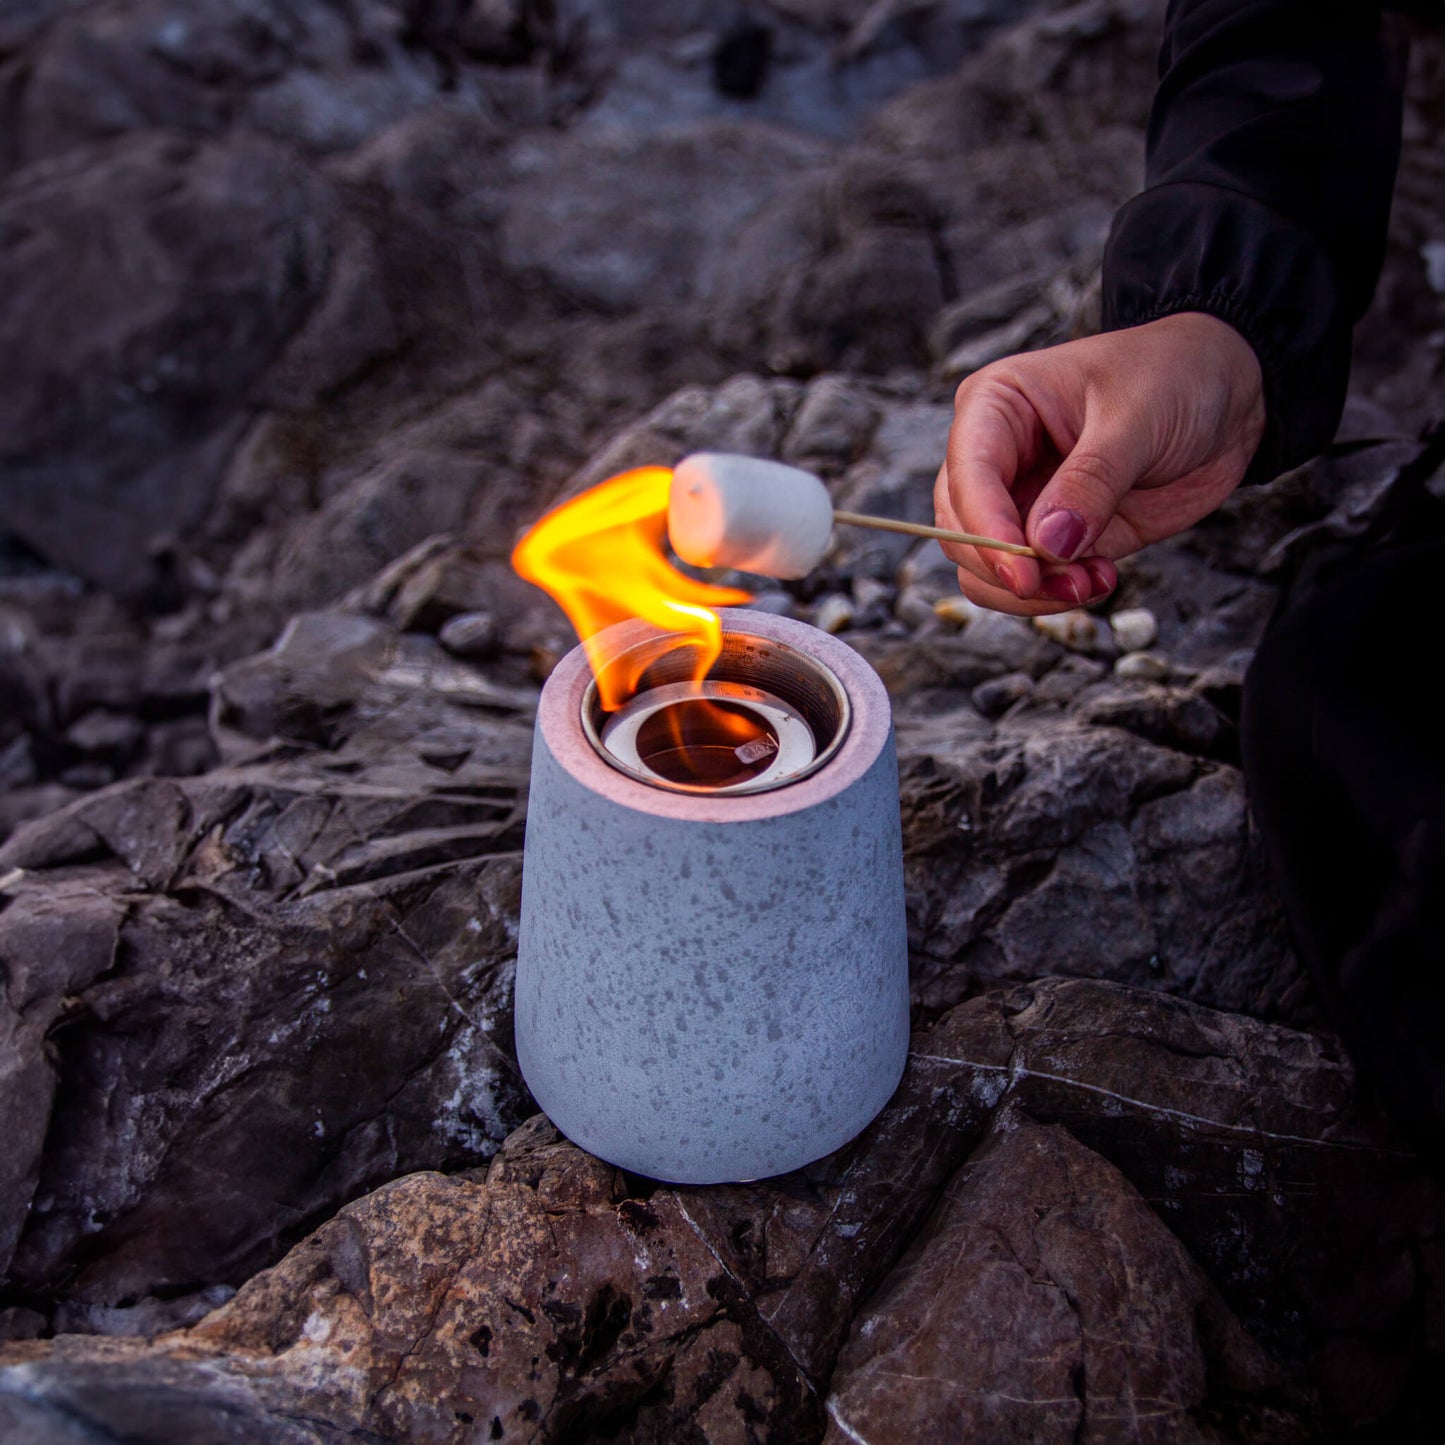
{"label": "speckled grey concrete body and rim of the tabletop fire pot", "polygon": [[847,1143],[893,1092],[909,1035],[883,683],[802,623],[722,616],[834,670],[853,705],[838,754],[734,798],[634,782],[581,731],[577,649],[538,714],[517,955],[517,1058],[538,1103],[584,1149],[686,1183],[783,1173]]}

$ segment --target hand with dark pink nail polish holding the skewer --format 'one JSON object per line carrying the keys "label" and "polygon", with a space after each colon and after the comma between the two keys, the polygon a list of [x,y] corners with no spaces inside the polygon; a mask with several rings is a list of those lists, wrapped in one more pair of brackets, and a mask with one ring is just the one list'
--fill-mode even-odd
{"label": "hand with dark pink nail polish holding the skewer", "polygon": [[1208,516],[1263,432],[1253,348],[1198,311],[975,371],[954,403],[938,525],[1027,542],[1040,559],[945,543],[959,588],[1023,616],[1107,597],[1114,558]]}

